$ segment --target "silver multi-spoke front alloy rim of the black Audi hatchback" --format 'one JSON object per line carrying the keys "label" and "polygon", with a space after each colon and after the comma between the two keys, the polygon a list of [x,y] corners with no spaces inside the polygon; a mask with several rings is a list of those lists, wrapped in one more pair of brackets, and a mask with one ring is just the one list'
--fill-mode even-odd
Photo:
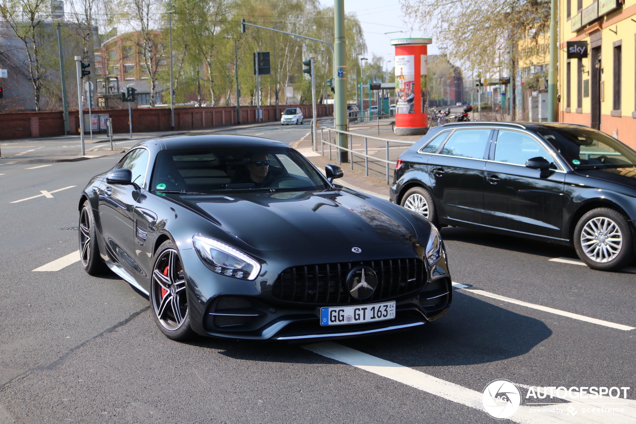
{"label": "silver multi-spoke front alloy rim of the black Audi hatchback", "polygon": [[585,223],[581,230],[581,247],[588,258],[604,264],[621,253],[623,234],[616,222],[599,216]]}

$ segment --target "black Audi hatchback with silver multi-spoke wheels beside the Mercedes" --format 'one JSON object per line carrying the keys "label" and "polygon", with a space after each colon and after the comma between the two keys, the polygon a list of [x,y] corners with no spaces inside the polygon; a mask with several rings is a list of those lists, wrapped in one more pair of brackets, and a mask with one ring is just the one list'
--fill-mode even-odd
{"label": "black Audi hatchback with silver multi-spoke wheels beside the Mercedes", "polygon": [[400,155],[391,201],[438,226],[574,244],[612,271],[634,257],[636,152],[582,125],[446,124]]}

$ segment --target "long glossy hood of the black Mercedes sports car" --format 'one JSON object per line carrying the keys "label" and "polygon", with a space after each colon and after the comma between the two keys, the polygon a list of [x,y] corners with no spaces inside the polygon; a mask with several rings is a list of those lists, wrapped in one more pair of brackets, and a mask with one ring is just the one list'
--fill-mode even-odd
{"label": "long glossy hood of the black Mercedes sports car", "polygon": [[258,250],[412,243],[413,225],[382,201],[343,190],[179,196],[174,200]]}

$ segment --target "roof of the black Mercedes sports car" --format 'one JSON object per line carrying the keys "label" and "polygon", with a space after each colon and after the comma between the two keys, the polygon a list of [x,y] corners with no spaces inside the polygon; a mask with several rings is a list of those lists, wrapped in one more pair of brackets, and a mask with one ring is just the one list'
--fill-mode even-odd
{"label": "roof of the black Mercedes sports car", "polygon": [[215,145],[237,147],[289,147],[285,143],[268,138],[236,136],[233,134],[207,134],[202,136],[163,137],[142,141],[142,143],[139,143],[137,146],[143,146],[146,145],[146,143],[159,143],[160,145],[163,145],[162,150],[209,147]]}

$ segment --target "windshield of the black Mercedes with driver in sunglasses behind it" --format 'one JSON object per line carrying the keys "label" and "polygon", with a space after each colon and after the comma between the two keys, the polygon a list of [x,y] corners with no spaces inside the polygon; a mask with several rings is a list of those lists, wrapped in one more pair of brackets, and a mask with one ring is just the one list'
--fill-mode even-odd
{"label": "windshield of the black Mercedes with driver in sunglasses behind it", "polygon": [[213,194],[230,191],[309,191],[329,188],[296,150],[284,147],[164,150],[155,161],[151,190]]}

